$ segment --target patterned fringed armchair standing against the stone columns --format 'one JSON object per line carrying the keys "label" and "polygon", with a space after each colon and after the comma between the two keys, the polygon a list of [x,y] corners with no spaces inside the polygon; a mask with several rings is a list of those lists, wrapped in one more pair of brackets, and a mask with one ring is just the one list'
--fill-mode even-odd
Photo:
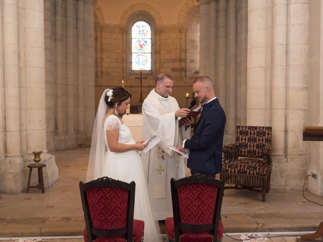
{"label": "patterned fringed armchair standing against the stone columns", "polygon": [[272,127],[237,126],[236,143],[223,147],[220,178],[235,187],[261,193],[266,201],[272,173]]}

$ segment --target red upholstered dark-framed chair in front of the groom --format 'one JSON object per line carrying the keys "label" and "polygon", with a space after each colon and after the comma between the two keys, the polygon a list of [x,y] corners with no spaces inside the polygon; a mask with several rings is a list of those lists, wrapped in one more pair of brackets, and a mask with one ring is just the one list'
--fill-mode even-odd
{"label": "red upholstered dark-framed chair in front of the groom", "polygon": [[166,218],[168,241],[217,242],[223,236],[220,219],[224,181],[197,174],[171,179],[173,218]]}

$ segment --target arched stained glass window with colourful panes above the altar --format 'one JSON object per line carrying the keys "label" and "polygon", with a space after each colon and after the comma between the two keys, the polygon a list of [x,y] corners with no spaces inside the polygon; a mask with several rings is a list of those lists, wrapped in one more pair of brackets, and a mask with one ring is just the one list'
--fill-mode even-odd
{"label": "arched stained glass window with colourful panes above the altar", "polygon": [[151,70],[151,29],[144,21],[134,23],[131,30],[132,70]]}

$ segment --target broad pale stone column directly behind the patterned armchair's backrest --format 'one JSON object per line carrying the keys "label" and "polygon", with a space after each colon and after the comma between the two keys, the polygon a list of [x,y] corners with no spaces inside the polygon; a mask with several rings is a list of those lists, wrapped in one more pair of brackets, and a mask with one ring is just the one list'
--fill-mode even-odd
{"label": "broad pale stone column directly behind the patterned armchair's backrest", "polygon": [[266,1],[248,1],[247,125],[265,124]]}

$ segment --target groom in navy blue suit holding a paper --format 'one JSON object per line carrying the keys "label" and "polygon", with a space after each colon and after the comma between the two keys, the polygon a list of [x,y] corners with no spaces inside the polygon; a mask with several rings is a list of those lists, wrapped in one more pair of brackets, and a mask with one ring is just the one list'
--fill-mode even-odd
{"label": "groom in navy blue suit holding a paper", "polygon": [[[222,170],[226,113],[214,94],[213,81],[209,77],[197,78],[193,90],[195,98],[202,104],[202,112],[192,138],[183,141],[183,147],[189,150],[187,167],[192,175],[201,173],[214,178]],[[183,147],[178,149],[185,152]]]}

